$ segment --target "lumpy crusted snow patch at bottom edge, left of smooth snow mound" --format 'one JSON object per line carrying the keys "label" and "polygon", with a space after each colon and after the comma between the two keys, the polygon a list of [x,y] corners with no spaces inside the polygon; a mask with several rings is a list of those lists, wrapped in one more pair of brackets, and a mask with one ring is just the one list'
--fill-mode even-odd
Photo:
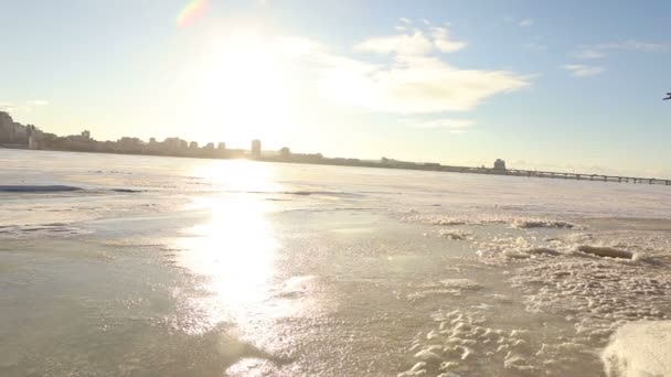
{"label": "lumpy crusted snow patch at bottom edge, left of smooth snow mound", "polygon": [[415,364],[397,377],[569,376],[576,364],[595,358],[569,337],[560,334],[545,344],[528,328],[492,326],[480,312],[440,312],[433,320],[436,327],[418,334],[409,348]]}

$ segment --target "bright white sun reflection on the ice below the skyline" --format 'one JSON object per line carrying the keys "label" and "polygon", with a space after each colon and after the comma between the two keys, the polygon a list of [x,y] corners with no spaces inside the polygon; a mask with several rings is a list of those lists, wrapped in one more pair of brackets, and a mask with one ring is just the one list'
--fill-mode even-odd
{"label": "bright white sun reflection on the ice below the skyline", "polygon": [[[235,162],[209,166],[213,184],[241,191],[274,186],[263,164]],[[230,321],[241,327],[267,316],[278,243],[266,218],[271,203],[249,194],[207,196],[191,208],[210,212],[210,220],[185,229],[178,240],[179,263],[205,278],[210,295],[193,303],[203,313],[203,327]],[[203,328],[204,330],[204,328]]]}

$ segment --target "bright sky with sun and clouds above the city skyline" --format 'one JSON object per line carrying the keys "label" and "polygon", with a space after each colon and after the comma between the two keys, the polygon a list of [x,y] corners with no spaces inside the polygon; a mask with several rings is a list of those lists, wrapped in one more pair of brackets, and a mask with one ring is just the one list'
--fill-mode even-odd
{"label": "bright sky with sun and clouds above the city skyline", "polygon": [[671,177],[669,1],[0,0],[58,134]]}

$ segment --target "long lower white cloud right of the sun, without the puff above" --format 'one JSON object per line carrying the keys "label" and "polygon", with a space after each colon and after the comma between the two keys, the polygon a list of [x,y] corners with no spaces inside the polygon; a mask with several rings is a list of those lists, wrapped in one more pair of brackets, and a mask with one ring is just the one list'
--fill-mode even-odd
{"label": "long lower white cloud right of the sun, without the puff above", "polygon": [[486,98],[529,85],[512,72],[459,69],[429,56],[405,56],[370,72],[356,64],[355,69],[331,66],[320,79],[320,93],[374,111],[432,114],[472,110]]}

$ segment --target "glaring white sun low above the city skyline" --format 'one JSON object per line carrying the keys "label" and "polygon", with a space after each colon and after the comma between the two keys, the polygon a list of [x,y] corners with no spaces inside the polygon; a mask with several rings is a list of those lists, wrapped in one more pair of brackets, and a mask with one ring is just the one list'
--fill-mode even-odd
{"label": "glaring white sun low above the city skyline", "polygon": [[201,117],[227,140],[280,132],[290,83],[287,61],[270,37],[253,30],[213,43],[196,85]]}

